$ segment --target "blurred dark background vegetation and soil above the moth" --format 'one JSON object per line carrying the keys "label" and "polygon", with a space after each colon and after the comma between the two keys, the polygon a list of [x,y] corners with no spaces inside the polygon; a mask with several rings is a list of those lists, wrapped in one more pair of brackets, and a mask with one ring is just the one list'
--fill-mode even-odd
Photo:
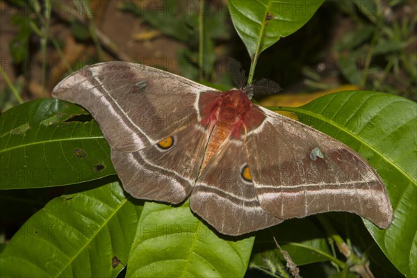
{"label": "blurred dark background vegetation and soil above the moth", "polygon": [[[181,7],[179,2],[167,0],[165,4]],[[140,1],[117,1],[116,8],[117,13],[139,20],[140,32],[131,38],[135,46],[150,44],[156,49],[154,41],[164,38],[165,45],[175,45],[178,63],[187,65],[179,67],[179,74],[230,88],[234,84],[224,74],[227,57],[238,58],[246,68],[250,58],[234,31],[226,3],[207,1],[203,63],[199,63],[198,55],[202,7],[197,1],[194,8],[172,8],[168,13],[156,13],[161,6],[149,7]],[[10,26],[2,27],[2,41],[9,49],[1,54],[1,111],[15,106],[20,97],[49,97],[65,72],[86,64],[103,60],[146,63],[140,55],[122,50],[120,46],[130,42],[115,41],[101,31],[103,22],[117,20],[106,13],[110,5],[107,1],[19,0],[1,5],[1,13],[11,17]],[[284,88],[283,94],[354,85],[417,100],[416,21],[413,0],[326,1],[309,24],[263,53],[255,76],[277,81]],[[126,31],[131,28],[126,26]],[[9,30],[13,30],[13,36],[6,38]],[[73,53],[67,45],[68,36],[76,45],[82,44],[85,53],[68,58]],[[65,67],[59,58],[66,59]],[[170,70],[168,65],[154,66]]]}

